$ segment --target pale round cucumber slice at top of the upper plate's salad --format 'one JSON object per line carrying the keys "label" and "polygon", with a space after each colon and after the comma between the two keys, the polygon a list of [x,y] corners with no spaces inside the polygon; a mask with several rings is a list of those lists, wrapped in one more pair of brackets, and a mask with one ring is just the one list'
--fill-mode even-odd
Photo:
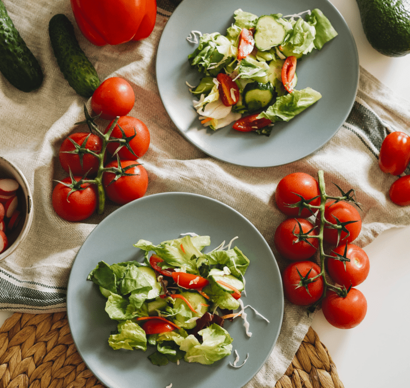
{"label": "pale round cucumber slice at top of the upper plate's salad", "polygon": [[272,15],[259,17],[255,26],[255,47],[260,51],[281,45],[285,39],[285,28]]}

